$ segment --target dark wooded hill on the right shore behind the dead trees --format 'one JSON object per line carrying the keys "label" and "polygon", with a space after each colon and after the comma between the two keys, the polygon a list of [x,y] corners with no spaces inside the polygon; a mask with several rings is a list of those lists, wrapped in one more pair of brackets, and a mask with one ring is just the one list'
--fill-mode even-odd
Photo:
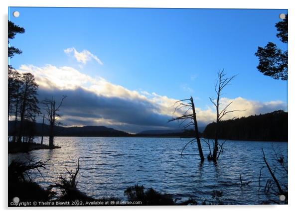
{"label": "dark wooded hill on the right shore behind the dead trees", "polygon": [[[216,123],[206,126],[203,136],[214,138]],[[288,112],[277,110],[220,121],[219,138],[230,140],[288,141]]]}

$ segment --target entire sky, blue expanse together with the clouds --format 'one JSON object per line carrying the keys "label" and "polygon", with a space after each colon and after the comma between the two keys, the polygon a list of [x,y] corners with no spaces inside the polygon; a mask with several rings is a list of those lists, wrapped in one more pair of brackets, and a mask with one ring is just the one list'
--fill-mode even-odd
{"label": "entire sky, blue expanse together with the clouds", "polygon": [[222,69],[237,75],[222,105],[245,109],[224,119],[287,111],[288,82],[260,73],[255,56],[269,41],[287,49],[276,37],[280,13],[287,10],[10,7],[25,33],[11,40],[23,53],[9,64],[35,76],[39,100],[67,96],[66,126],[178,128],[167,123],[180,114],[173,104],[190,96],[205,126],[215,119],[209,97]]}

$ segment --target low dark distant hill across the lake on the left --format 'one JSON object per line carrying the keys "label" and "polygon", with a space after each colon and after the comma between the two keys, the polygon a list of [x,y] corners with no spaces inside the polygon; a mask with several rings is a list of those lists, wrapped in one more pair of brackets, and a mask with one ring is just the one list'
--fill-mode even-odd
{"label": "low dark distant hill across the lake on the left", "polygon": [[[14,121],[8,122],[8,135],[12,135],[14,132]],[[19,127],[19,121],[17,121],[16,127]],[[25,122],[25,133],[34,133],[35,136],[47,136],[49,132],[49,125],[41,123]],[[56,136],[132,136],[124,131],[119,131],[106,126],[71,126],[71,127],[54,127]]]}

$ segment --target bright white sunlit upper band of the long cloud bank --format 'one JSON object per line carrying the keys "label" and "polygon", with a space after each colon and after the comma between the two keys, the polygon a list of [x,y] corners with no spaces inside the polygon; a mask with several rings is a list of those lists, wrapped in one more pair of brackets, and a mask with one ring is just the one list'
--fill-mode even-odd
{"label": "bright white sunlit upper band of the long cloud bank", "polygon": [[[45,65],[44,67],[36,67],[33,65],[21,65],[18,69],[20,73],[30,72],[34,75],[37,84],[40,88],[45,90],[75,90],[82,88],[87,92],[98,96],[108,98],[121,98],[127,101],[133,101],[140,104],[150,104],[147,106],[150,111],[168,116],[176,116],[184,112],[174,111],[174,103],[176,99],[161,96],[156,93],[149,93],[146,91],[132,91],[123,86],[110,83],[101,77],[93,78],[89,75],[83,74],[72,67],[56,67],[52,65]],[[202,99],[204,100],[204,99]],[[286,110],[286,104],[282,101],[260,102],[247,100],[241,97],[230,99],[221,98],[221,108],[233,102],[228,110],[245,110],[235,111],[226,114],[223,119],[231,119],[233,117],[249,116],[259,113],[271,112],[278,109]],[[120,107],[122,108],[122,106]],[[197,119],[202,123],[210,123],[215,120],[215,108],[213,105],[207,106],[206,109],[196,107]],[[99,118],[94,118],[95,121],[102,121]],[[102,121],[104,122],[104,121]],[[108,121],[106,121],[108,122]],[[111,123],[118,123],[118,121],[109,121]]]}

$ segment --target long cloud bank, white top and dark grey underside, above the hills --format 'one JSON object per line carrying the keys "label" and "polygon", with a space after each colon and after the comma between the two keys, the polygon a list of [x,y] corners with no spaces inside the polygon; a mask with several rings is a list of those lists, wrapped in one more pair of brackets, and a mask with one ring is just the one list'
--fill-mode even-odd
{"label": "long cloud bank, white top and dark grey underside, above the hills", "polygon": [[[139,132],[149,129],[178,128],[177,122],[168,123],[172,116],[181,112],[174,111],[176,99],[146,91],[132,91],[120,85],[110,83],[101,77],[91,77],[72,67],[45,65],[21,65],[20,73],[30,72],[39,85],[39,100],[50,98],[61,99],[68,96],[61,107],[61,122],[71,125],[105,125],[128,132]],[[259,102],[241,97],[220,100],[221,107],[232,102],[228,108],[240,109],[226,114],[223,119],[266,113],[286,109],[282,101]],[[215,109],[196,107],[199,126],[215,120]]]}

